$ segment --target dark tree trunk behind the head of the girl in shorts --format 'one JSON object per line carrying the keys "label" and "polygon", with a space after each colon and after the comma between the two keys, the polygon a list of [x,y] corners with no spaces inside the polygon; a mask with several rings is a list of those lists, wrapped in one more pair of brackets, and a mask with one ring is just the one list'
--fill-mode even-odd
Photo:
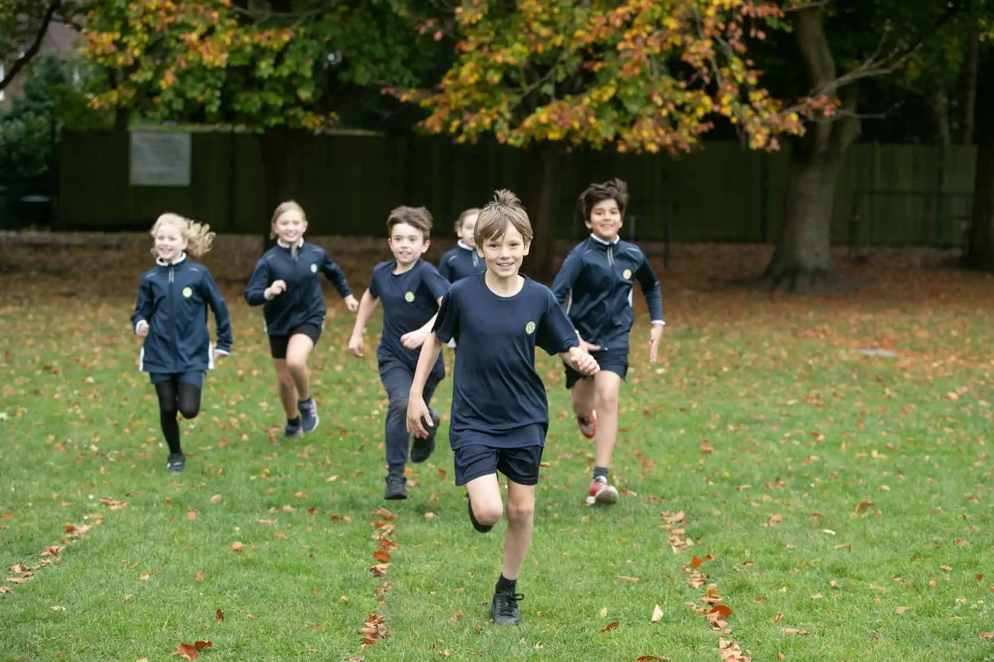
{"label": "dark tree trunk behind the head of the girl in shorts", "polygon": [[[272,212],[287,200],[294,200],[300,190],[301,158],[307,132],[285,126],[268,129],[258,135],[262,152],[263,200],[259,222],[262,250],[271,247],[275,240],[272,231]],[[297,200],[297,202],[301,202]],[[303,203],[301,203],[303,204]],[[306,210],[306,207],[305,207]]]}

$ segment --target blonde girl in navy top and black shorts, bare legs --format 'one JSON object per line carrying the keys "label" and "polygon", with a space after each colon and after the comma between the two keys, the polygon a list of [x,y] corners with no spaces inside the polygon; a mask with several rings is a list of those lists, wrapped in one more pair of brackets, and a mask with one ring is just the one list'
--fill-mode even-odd
{"label": "blonde girl in navy top and black shorts, bare legs", "polygon": [[255,263],[245,291],[248,305],[263,306],[279,400],[286,413],[286,438],[313,431],[319,420],[307,372],[307,358],[321,337],[326,312],[318,273],[335,285],[349,312],[359,308],[345,273],[324,248],[304,243],[305,232],[307,217],[300,205],[290,200],[277,207],[270,238],[279,239]]}

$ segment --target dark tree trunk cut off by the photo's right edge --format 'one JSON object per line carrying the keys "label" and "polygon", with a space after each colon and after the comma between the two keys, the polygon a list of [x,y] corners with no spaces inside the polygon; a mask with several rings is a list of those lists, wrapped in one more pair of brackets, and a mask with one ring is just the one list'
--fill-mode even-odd
{"label": "dark tree trunk cut off by the photo's right edge", "polygon": [[963,264],[994,271],[994,49],[988,49],[977,90],[977,165],[973,217]]}

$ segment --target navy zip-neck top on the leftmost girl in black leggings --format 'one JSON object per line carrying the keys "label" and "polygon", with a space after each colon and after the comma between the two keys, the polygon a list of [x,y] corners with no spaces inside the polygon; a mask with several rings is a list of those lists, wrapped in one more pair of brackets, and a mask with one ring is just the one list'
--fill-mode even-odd
{"label": "navy zip-neck top on the leftmost girl in black leggings", "polygon": [[161,258],[145,273],[138,286],[138,300],[131,327],[148,323],[141,350],[140,369],[147,373],[188,373],[213,366],[207,307],[218,326],[218,351],[232,351],[232,323],[228,304],[207,267],[192,262],[186,253],[173,263]]}

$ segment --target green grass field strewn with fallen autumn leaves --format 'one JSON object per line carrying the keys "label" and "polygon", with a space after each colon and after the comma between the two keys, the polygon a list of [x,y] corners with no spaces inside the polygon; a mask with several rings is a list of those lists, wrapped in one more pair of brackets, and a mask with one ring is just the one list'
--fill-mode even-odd
{"label": "green grass field strewn with fallen autumn leaves", "polygon": [[[165,473],[128,324],[146,240],[0,244],[0,660],[154,662],[195,641],[219,661],[994,660],[991,277],[882,253],[840,259],[855,297],[770,297],[712,287],[764,248],[678,248],[661,362],[640,345],[622,393],[611,509],[583,505],[592,447],[540,358],[549,466],[523,623],[497,628],[504,525],[469,526],[445,423],[411,498],[383,501],[386,402],[330,289],[321,427],[273,434],[241,296],[257,252],[234,239],[204,261],[235,352],[181,424],[186,472]],[[383,257],[340,261],[358,288]]]}

